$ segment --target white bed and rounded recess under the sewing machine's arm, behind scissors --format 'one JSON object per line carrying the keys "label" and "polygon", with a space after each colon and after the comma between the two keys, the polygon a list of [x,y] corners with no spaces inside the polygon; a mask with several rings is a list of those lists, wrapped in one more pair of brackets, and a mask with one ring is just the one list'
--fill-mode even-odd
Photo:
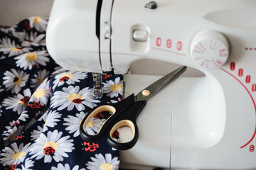
{"label": "white bed and rounded recess under the sewing machine's arm, behind scissors", "polygon": [[[126,96],[137,94],[159,78],[125,75]],[[220,84],[213,84],[208,86],[206,77],[182,77],[149,98],[137,119],[139,141],[120,152],[121,162],[168,168],[171,148],[206,149],[220,142],[225,100]]]}

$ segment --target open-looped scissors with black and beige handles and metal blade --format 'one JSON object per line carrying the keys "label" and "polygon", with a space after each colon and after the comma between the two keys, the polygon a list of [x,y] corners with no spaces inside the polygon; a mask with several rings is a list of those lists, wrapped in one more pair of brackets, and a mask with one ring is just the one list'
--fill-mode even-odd
{"label": "open-looped scissors with black and beige handles and metal blade", "polygon": [[[137,127],[137,117],[139,113],[146,106],[146,100],[156,94],[164,85],[177,79],[183,72],[186,71],[186,66],[179,67],[161,79],[155,81],[153,84],[146,87],[134,96],[134,94],[124,98],[119,103],[111,103],[107,105],[97,106],[94,110],[88,113],[83,118],[80,124],[80,136],[86,142],[97,142],[103,135],[107,134],[107,143],[115,149],[125,150],[134,147],[139,137],[139,130]],[[90,120],[97,115],[97,113],[107,111],[112,113],[103,123],[100,130],[95,135],[90,135],[85,132],[86,125]],[[118,142],[112,138],[112,135],[118,128],[128,127],[132,130],[132,139],[127,142]]]}

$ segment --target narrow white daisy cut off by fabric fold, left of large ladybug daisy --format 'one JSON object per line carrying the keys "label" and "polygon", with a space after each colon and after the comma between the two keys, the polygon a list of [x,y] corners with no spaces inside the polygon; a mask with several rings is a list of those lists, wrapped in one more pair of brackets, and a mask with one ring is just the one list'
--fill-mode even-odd
{"label": "narrow white daisy cut off by fabric fold, left of large ladybug daisy", "polygon": [[41,106],[46,106],[49,96],[49,81],[48,79],[46,79],[40,86],[38,86],[36,91],[33,93],[33,95],[31,96],[31,101],[36,101],[37,103],[40,103]]}

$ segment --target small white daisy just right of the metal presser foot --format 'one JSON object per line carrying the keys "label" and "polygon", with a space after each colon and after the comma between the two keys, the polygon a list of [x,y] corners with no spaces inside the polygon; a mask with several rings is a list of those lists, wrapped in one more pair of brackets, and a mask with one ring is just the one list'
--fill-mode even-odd
{"label": "small white daisy just right of the metal presser foot", "polygon": [[123,94],[123,81],[120,81],[120,77],[114,79],[114,81],[106,81],[103,84],[103,93],[107,94],[111,98],[117,97],[118,94]]}

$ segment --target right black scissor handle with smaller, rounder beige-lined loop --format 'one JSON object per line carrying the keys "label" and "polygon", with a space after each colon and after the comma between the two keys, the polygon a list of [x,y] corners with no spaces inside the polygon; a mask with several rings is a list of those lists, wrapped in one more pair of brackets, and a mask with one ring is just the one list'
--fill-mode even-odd
{"label": "right black scissor handle with smaller, rounder beige-lined loop", "polygon": [[[130,106],[127,111],[125,111],[122,115],[120,115],[117,120],[114,121],[113,126],[108,130],[107,134],[107,143],[119,150],[127,150],[134,147],[138,138],[139,138],[139,130],[136,123],[137,117],[139,113],[143,110],[144,106],[146,106],[146,101],[137,101]],[[128,142],[118,142],[113,140],[112,134],[118,128],[129,127],[132,130],[132,138]]]}

